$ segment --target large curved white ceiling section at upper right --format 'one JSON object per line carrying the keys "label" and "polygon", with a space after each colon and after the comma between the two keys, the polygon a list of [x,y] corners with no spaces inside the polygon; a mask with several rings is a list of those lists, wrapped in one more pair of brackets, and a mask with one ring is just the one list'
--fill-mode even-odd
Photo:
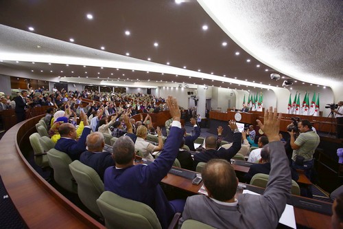
{"label": "large curved white ceiling section at upper right", "polygon": [[246,52],[292,78],[332,85],[343,76],[343,1],[198,0]]}

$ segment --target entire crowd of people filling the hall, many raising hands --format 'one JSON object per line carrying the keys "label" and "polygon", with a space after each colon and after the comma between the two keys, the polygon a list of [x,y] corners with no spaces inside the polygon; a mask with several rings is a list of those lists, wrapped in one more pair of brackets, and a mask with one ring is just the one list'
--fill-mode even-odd
{"label": "entire crowd of people filling the hall, many raising hands", "polygon": [[[215,228],[276,228],[290,195],[291,181],[298,179],[296,169],[305,171],[309,179],[313,178],[313,155],[320,142],[318,134],[308,120],[300,120],[296,123],[297,128],[294,124],[288,128],[290,138],[285,140],[279,132],[281,115],[278,116],[276,109],[266,109],[263,123],[257,120],[263,135],[257,136],[254,126],[241,132],[235,121],[230,120],[228,127],[233,132],[230,146],[221,146],[223,128],[219,126],[217,136],[209,135],[196,149],[194,141],[201,133],[201,118],[198,119],[193,108],[180,110],[178,101],[171,96],[164,100],[144,94],[98,94],[91,91],[36,93],[21,91],[21,95],[14,99],[19,120],[24,118],[21,111],[25,112],[27,107],[51,102],[53,107],[47,110],[45,122],[51,140],[56,142],[55,148],[67,153],[71,160],[80,160],[94,168],[106,190],[150,206],[162,228],[167,228],[176,212],[182,212],[180,226],[187,219],[195,219]],[[83,107],[83,98],[94,102]],[[11,103],[2,99],[1,102],[1,106],[4,102],[5,105]],[[173,121],[163,142],[162,131],[153,127],[149,113],[165,110],[169,111]],[[136,122],[131,116],[139,113],[140,120]],[[145,118],[142,113],[147,113]],[[191,123],[191,135],[181,127],[181,118]],[[158,142],[147,141],[148,134],[156,135]],[[104,151],[104,135],[117,138],[113,152]],[[245,182],[256,173],[270,175],[261,196],[235,196],[238,179],[230,160],[243,146],[257,147],[246,155],[248,161],[255,164],[244,177]],[[160,153],[154,158],[156,151]],[[137,153],[153,162],[134,165]],[[193,171],[198,163],[206,163],[202,179],[208,196],[167,199],[159,183],[176,159],[182,168]],[[342,195],[338,195],[333,206],[333,219],[338,226],[343,225],[342,199]]]}

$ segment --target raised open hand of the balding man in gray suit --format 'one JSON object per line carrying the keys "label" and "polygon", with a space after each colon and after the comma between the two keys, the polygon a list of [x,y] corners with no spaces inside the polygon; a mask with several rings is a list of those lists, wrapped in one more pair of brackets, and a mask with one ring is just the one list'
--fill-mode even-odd
{"label": "raised open hand of the balding man in gray suit", "polygon": [[256,120],[257,124],[261,130],[267,135],[269,142],[279,141],[279,130],[280,130],[280,120],[281,120],[281,113],[277,113],[277,109],[269,107],[269,109],[265,109],[264,112],[264,121],[263,123],[260,120]]}

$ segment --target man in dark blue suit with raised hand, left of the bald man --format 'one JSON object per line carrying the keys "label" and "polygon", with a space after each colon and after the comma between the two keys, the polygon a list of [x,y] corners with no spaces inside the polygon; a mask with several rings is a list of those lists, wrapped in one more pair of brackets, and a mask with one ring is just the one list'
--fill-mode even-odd
{"label": "man in dark blue suit with raised hand, left of the bald man", "polygon": [[84,122],[84,130],[78,141],[76,141],[77,133],[73,124],[64,123],[58,128],[61,138],[56,142],[55,149],[67,153],[71,160],[79,160],[80,154],[86,151],[86,137],[91,133],[86,114],[82,113],[80,117]]}

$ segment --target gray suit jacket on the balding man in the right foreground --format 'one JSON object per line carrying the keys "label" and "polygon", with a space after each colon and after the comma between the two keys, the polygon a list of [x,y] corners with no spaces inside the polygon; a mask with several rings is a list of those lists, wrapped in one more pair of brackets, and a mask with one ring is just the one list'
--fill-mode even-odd
{"label": "gray suit jacket on the balding man in the right foreground", "polygon": [[179,228],[187,219],[215,228],[276,228],[292,182],[284,144],[270,142],[269,146],[272,170],[263,195],[239,195],[237,206],[224,206],[205,195],[193,195],[187,198]]}

